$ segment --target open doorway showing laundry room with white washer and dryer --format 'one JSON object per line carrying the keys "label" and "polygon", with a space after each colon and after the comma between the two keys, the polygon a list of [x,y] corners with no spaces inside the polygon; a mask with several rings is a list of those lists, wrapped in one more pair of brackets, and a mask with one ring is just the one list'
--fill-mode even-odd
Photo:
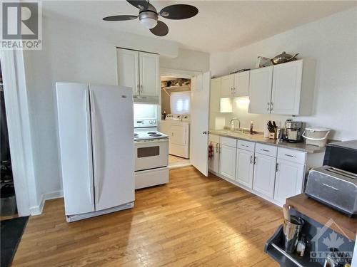
{"label": "open doorway showing laundry room with white washer and dryer", "polygon": [[161,76],[160,131],[169,136],[169,167],[190,165],[191,78]]}

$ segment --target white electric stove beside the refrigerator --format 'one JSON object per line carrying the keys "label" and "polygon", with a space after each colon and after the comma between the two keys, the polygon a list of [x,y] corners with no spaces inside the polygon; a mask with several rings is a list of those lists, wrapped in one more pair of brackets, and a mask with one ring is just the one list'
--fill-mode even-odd
{"label": "white electric stove beside the refrigerator", "polygon": [[156,120],[140,120],[141,127],[137,122],[134,125],[135,189],[166,184],[169,182],[169,137],[157,131]]}

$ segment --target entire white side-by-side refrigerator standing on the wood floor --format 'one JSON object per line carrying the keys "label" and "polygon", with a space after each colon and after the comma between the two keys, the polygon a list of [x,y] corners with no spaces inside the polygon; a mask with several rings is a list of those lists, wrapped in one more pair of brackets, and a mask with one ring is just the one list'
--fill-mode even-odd
{"label": "entire white side-by-side refrigerator standing on the wood floor", "polygon": [[134,206],[131,88],[56,83],[67,221]]}

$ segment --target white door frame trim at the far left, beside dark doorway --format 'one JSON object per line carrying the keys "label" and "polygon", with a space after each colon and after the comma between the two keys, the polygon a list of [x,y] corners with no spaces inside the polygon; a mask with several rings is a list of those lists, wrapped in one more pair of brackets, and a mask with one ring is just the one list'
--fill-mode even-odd
{"label": "white door frame trim at the far left, beside dark doorway", "polygon": [[24,51],[0,51],[11,166],[19,216],[41,213],[26,88]]}

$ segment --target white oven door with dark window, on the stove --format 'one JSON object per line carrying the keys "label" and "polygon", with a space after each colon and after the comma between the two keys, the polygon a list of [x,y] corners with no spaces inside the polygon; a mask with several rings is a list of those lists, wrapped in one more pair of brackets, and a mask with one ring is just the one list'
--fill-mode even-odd
{"label": "white oven door with dark window, on the stove", "polygon": [[169,164],[169,140],[135,142],[135,170],[155,169]]}

